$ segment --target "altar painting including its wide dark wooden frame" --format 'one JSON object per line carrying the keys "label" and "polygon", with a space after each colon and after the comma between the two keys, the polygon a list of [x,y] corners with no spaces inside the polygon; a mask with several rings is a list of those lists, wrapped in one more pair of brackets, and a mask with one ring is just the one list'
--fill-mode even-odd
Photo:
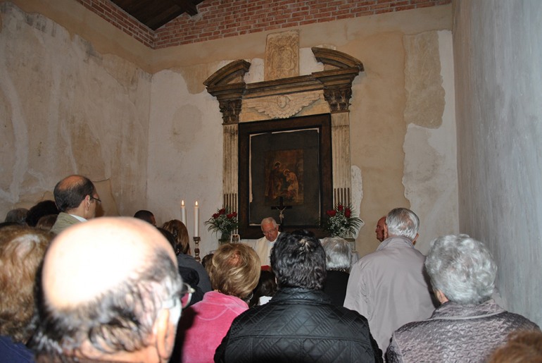
{"label": "altar painting including its wide dark wooden frame", "polygon": [[332,209],[329,114],[239,123],[239,233],[260,238],[272,216],[281,230],[316,235]]}

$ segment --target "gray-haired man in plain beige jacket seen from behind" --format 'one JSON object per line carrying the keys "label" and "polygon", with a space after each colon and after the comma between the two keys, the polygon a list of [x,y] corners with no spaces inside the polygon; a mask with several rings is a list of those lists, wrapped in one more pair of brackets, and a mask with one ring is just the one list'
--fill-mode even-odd
{"label": "gray-haired man in plain beige jacket seen from behind", "polygon": [[412,245],[419,225],[410,209],[392,209],[384,225],[386,240],[352,266],[348,279],[344,307],[367,318],[383,352],[393,331],[429,318],[435,308],[423,273],[425,257]]}

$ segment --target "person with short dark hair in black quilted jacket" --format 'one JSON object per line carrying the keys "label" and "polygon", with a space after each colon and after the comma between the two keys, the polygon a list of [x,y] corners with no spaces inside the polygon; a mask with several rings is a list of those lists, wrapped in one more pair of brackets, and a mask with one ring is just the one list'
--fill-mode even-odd
{"label": "person with short dark hair in black quilted jacket", "polygon": [[317,238],[282,233],[271,267],[279,290],[233,321],[215,362],[382,362],[367,319],[322,292],[326,257]]}

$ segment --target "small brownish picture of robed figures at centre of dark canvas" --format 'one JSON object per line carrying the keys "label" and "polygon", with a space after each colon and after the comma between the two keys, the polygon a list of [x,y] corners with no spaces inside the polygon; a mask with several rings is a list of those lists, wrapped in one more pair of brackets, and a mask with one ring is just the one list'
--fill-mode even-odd
{"label": "small brownish picture of robed figures at centre of dark canvas", "polygon": [[265,153],[265,205],[303,204],[303,149]]}

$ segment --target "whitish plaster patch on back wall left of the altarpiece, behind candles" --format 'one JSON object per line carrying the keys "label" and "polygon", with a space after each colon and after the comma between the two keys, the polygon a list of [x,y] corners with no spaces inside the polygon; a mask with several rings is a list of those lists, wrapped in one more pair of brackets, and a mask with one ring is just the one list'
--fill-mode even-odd
{"label": "whitish plaster patch on back wall left of the altarpiece, behind candles", "polygon": [[[208,232],[203,221],[222,208],[222,114],[218,101],[206,91],[191,94],[181,73],[163,70],[153,75],[151,104],[149,209],[161,225],[180,219],[184,199],[192,238],[194,203],[198,201],[203,257],[218,247],[217,236]],[[194,254],[193,243],[191,246]]]}

